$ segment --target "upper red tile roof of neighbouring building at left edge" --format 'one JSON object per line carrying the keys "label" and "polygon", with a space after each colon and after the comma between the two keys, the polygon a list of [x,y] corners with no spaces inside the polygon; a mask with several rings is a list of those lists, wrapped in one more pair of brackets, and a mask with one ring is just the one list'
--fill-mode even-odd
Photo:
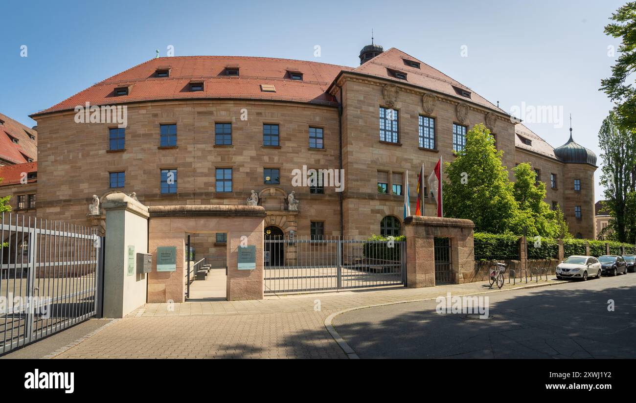
{"label": "upper red tile roof of neighbouring building at left edge", "polygon": [[[38,132],[2,113],[0,113],[0,121],[4,121],[0,124],[0,158],[15,164],[28,162],[27,158],[37,160]],[[29,134],[36,139],[31,140]],[[10,136],[17,139],[18,143],[13,142]]]}

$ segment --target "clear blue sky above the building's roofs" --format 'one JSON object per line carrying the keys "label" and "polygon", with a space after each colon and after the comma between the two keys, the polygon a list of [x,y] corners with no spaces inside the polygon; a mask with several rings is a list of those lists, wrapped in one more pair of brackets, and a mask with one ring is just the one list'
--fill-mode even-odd
{"label": "clear blue sky above the building's roofs", "polygon": [[[625,1],[3,1],[0,111],[27,115],[155,57],[239,55],[356,66],[375,41],[445,72],[510,111],[563,106],[574,139],[597,155],[611,109],[598,92],[618,48],[603,27]],[[27,45],[28,57],[20,57]],[[321,57],[314,57],[314,45]],[[460,54],[467,46],[468,57]],[[528,123],[552,146],[568,139],[552,123]],[[600,160],[599,160],[600,163]],[[598,171],[597,171],[598,178]],[[598,182],[598,181],[597,181]],[[601,198],[597,185],[597,200]]]}

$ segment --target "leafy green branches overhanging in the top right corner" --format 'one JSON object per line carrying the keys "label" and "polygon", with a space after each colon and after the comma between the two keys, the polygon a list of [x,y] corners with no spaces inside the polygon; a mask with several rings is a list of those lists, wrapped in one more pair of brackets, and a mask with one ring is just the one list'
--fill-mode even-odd
{"label": "leafy green branches overhanging in the top right corner", "polygon": [[615,111],[619,123],[626,128],[636,128],[636,88],[632,81],[636,71],[636,2],[621,6],[610,18],[614,22],[605,26],[605,34],[621,38],[619,57],[612,66],[612,76],[601,80],[600,91],[616,102]]}

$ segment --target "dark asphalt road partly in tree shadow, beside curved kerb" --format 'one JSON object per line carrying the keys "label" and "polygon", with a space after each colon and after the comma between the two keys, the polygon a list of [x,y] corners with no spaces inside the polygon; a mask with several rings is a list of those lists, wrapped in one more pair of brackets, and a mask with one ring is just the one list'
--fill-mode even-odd
{"label": "dark asphalt road partly in tree shadow, beside curved kerb", "polygon": [[333,324],[361,358],[636,358],[636,273],[482,296],[493,318],[422,301],[349,311]]}

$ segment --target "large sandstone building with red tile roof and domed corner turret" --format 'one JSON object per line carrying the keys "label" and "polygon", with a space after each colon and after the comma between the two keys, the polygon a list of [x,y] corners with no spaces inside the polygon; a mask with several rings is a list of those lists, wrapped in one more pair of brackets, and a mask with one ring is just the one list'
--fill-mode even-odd
{"label": "large sandstone building with red tile roof and domed corner turret", "polygon": [[[485,123],[509,170],[529,162],[570,231],[594,238],[596,156],[570,136],[553,148],[467,86],[403,51],[370,45],[345,67],[260,57],[148,60],[32,115],[38,122],[37,214],[100,225],[92,195],[135,192],[146,205],[240,204],[251,191],[266,232],[296,236],[398,234],[404,175],[415,211],[417,172],[453,159]],[[127,107],[127,126],[78,122],[82,108]],[[79,108],[79,109],[78,109]],[[79,110],[79,112],[78,112]],[[95,120],[97,122],[97,120]],[[565,135],[564,135],[565,137]],[[293,186],[294,173],[343,170],[337,186]],[[512,174],[511,174],[512,177]],[[296,183],[297,184],[297,183]],[[294,210],[288,195],[300,204]],[[292,198],[293,200],[293,198]],[[425,214],[436,203],[425,198]],[[223,255],[223,233],[195,239]]]}

